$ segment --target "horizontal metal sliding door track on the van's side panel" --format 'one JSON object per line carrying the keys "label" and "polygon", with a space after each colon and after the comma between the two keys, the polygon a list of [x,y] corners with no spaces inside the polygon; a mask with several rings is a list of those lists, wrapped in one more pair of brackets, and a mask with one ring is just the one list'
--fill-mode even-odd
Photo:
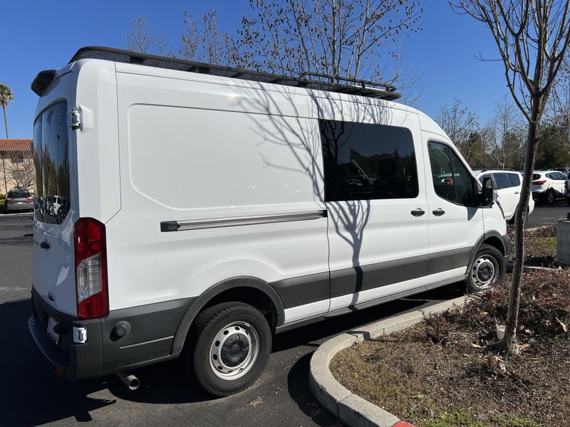
{"label": "horizontal metal sliding door track on the van's side panel", "polygon": [[291,212],[289,214],[234,216],[232,218],[195,219],[192,221],[162,221],[160,223],[160,231],[186,231],[200,230],[202,228],[253,226],[277,222],[306,221],[318,218],[326,218],[326,210]]}

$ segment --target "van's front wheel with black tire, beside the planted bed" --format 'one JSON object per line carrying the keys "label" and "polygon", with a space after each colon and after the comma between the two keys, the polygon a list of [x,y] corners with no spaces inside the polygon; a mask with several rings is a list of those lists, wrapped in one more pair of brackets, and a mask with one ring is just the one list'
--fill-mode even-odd
{"label": "van's front wheel with black tire, beside the planted bed", "polygon": [[475,258],[467,270],[465,284],[471,292],[480,292],[492,288],[504,279],[507,263],[497,248],[491,245],[481,245]]}

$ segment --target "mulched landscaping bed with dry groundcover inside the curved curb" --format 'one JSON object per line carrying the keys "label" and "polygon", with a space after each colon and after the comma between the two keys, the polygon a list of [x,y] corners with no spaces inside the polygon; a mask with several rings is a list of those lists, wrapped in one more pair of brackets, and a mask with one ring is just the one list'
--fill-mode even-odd
{"label": "mulched landscaping bed with dry groundcover inside the curved curb", "polygon": [[347,389],[416,426],[570,426],[570,270],[524,273],[518,355],[487,349],[510,277],[465,307],[333,358]]}

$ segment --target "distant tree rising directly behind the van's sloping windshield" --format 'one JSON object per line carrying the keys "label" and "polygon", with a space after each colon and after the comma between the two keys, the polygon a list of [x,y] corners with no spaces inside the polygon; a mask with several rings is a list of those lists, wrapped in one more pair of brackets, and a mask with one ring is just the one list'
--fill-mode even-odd
{"label": "distant tree rising directly behind the van's sloping windshield", "polygon": [[467,110],[461,100],[453,99],[451,107],[444,105],[437,112],[436,122],[460,150],[467,163],[475,165],[482,159],[482,144],[472,136],[479,129],[479,120],[475,113]]}

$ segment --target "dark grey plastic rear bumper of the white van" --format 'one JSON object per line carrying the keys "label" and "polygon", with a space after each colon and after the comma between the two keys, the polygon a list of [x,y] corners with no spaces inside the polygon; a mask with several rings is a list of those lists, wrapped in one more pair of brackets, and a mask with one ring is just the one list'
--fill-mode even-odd
{"label": "dark grey plastic rear bumper of the white van", "polygon": [[[33,315],[28,329],[51,371],[68,380],[94,378],[174,359],[172,341],[195,298],[113,310],[100,319],[83,320],[54,310],[32,288]],[[47,334],[49,318],[58,322],[58,344]],[[130,331],[120,337],[117,324]],[[87,341],[73,342],[73,327],[84,327]]]}

